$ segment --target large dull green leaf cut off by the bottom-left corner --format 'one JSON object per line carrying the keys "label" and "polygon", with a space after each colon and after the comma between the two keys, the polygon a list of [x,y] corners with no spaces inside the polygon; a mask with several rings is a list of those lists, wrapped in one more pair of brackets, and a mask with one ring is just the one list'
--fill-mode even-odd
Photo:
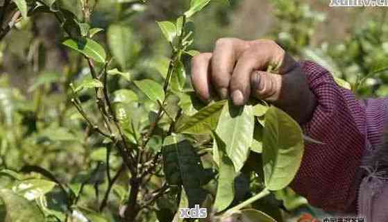
{"label": "large dull green leaf cut off by the bottom-left corner", "polygon": [[9,189],[0,189],[0,198],[6,207],[4,222],[42,222],[44,216],[35,203]]}

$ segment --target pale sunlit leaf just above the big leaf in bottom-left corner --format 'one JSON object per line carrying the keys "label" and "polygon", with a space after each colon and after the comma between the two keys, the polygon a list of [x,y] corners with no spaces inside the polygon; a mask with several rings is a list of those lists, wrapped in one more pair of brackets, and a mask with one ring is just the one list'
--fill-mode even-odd
{"label": "pale sunlit leaf just above the big leaf in bottom-left corner", "polygon": [[27,200],[35,200],[51,191],[56,186],[56,182],[50,180],[31,179],[17,181],[12,186],[12,191],[20,196],[24,196]]}

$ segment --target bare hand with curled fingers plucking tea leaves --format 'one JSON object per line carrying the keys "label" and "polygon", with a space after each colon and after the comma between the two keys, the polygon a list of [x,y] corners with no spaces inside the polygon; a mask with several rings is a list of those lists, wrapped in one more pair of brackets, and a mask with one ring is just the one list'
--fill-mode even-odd
{"label": "bare hand with curled fingers plucking tea leaves", "polygon": [[[269,66],[277,74],[268,73]],[[271,40],[217,40],[212,53],[194,56],[192,83],[204,101],[218,94],[244,105],[252,96],[273,103],[298,123],[310,119],[316,104],[299,63]]]}

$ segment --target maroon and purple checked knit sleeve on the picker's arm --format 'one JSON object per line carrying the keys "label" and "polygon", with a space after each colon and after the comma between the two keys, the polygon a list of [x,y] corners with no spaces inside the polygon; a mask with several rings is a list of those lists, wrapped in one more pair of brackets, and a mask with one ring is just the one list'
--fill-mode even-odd
{"label": "maroon and purple checked knit sleeve on the picker's arm", "polygon": [[302,67],[318,101],[303,131],[323,144],[306,144],[292,188],[311,205],[348,212],[357,196],[355,182],[362,155],[382,138],[385,100],[357,100],[320,65],[305,61]]}

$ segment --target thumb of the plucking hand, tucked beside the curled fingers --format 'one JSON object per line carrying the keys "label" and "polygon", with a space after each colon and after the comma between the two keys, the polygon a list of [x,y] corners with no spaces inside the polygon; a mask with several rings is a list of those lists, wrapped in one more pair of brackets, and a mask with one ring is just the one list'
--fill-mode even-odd
{"label": "thumb of the plucking hand, tucked beside the curled fingers", "polygon": [[266,71],[253,71],[251,74],[252,96],[269,102],[276,102],[280,97],[282,76]]}

